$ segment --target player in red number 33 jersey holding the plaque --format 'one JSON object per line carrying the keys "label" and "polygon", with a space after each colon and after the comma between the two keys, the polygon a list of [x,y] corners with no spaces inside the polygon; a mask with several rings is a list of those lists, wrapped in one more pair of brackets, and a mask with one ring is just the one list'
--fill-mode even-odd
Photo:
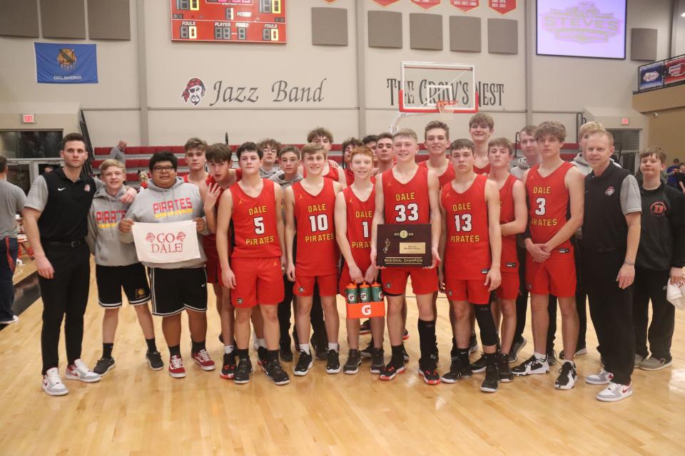
{"label": "player in red number 33 jersey holding the plaque", "polygon": [[[432,264],[428,268],[388,268],[382,271],[383,289],[387,296],[387,329],[390,335],[392,358],[380,373],[381,380],[392,380],[405,371],[402,358],[402,303],[407,279],[412,278],[412,289],[419,309],[419,343],[421,358],[419,374],[425,383],[440,383],[435,356],[435,313],[432,294],[437,291],[437,266],[440,255],[439,182],[432,170],[416,164],[419,150],[413,130],[399,130],[392,137],[397,165],[376,177],[376,205],[371,239],[371,263],[376,264],[377,227],[379,224],[431,224]],[[387,203],[387,204],[386,204]]]}

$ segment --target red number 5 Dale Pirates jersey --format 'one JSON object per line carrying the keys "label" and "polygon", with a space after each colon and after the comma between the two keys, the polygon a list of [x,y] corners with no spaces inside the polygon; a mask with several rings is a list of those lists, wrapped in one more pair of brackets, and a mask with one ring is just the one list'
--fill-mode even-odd
{"label": "red number 5 Dale Pirates jersey", "polygon": [[280,257],[280,240],[276,225],[276,195],[274,182],[262,179],[262,191],[257,197],[243,192],[240,185],[231,185],[233,197],[233,258]]}

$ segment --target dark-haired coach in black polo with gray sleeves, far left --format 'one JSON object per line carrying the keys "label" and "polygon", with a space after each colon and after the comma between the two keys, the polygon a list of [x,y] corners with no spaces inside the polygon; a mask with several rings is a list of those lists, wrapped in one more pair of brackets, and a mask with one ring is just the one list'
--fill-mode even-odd
{"label": "dark-haired coach in black polo with gray sleeves, far left", "polygon": [[[64,167],[39,176],[24,206],[24,227],[34,249],[43,298],[42,388],[49,395],[68,393],[57,369],[59,331],[65,314],[66,378],[86,383],[100,380],[100,375],[81,361],[81,342],[91,275],[90,252],[84,239],[88,209],[102,182],[81,177],[88,157],[83,136],[66,135],[60,155]],[[130,189],[126,199],[131,201],[135,195]]]}

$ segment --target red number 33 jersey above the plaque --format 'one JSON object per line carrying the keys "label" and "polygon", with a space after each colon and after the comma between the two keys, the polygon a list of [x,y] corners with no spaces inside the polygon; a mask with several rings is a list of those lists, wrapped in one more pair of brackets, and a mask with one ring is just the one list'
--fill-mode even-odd
{"label": "red number 33 jersey above the plaque", "polygon": [[382,176],[385,223],[430,223],[427,167],[418,166],[414,177],[406,184],[395,179],[392,170]]}

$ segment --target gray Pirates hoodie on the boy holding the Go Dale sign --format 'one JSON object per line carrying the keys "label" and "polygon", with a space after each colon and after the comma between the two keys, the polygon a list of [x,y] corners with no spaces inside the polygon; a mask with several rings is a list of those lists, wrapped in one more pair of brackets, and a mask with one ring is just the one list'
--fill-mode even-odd
{"label": "gray Pirates hoodie on the boy holding the Go Dale sign", "polygon": [[[133,222],[164,223],[184,222],[196,219],[197,217],[204,217],[200,189],[197,185],[188,184],[183,182],[181,177],[176,177],[176,183],[167,189],[157,187],[152,180],[148,181],[148,189],[138,194],[131,207],[128,208],[125,218],[132,219]],[[209,234],[206,224],[205,231],[202,234]],[[205,257],[200,236],[201,234],[198,233],[200,258],[178,263],[149,263],[148,261],[143,261],[143,264],[149,268],[161,269],[202,267],[207,257]],[[119,239],[121,239],[121,242],[131,244],[133,242],[133,234],[131,232],[119,232]]]}

